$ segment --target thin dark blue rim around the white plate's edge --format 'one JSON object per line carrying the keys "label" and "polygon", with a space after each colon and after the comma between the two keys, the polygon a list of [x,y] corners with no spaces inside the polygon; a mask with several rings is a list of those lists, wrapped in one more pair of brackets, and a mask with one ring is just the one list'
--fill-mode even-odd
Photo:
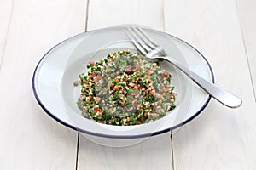
{"label": "thin dark blue rim around the white plate's edge", "polygon": [[[39,59],[38,61],[38,64],[36,65],[35,69],[34,69],[34,72],[33,72],[33,75],[32,75],[32,91],[33,91],[33,94],[34,94],[34,97],[35,99],[37,99],[38,101],[38,105],[41,106],[41,108],[44,110],[45,113],[47,113],[47,115],[49,115],[50,117],[52,117],[56,122],[59,122],[61,123],[62,125],[66,126],[66,127],[69,127],[69,128],[72,128],[73,130],[76,130],[76,131],[79,131],[81,133],[86,133],[86,134],[90,134],[90,135],[94,135],[94,136],[97,136],[97,137],[104,137],[104,138],[110,138],[110,139],[138,139],[138,138],[145,138],[145,137],[149,137],[149,136],[154,136],[154,135],[158,135],[158,134],[161,134],[161,133],[167,133],[169,131],[172,131],[173,129],[176,129],[177,127],[182,127],[183,125],[187,124],[188,122],[191,122],[193,119],[195,119],[196,116],[200,115],[201,111],[203,111],[207,105],[209,104],[210,100],[212,99],[212,96],[210,94],[208,94],[208,97],[206,99],[206,101],[204,102],[204,105],[201,106],[200,110],[196,111],[195,114],[193,114],[193,116],[190,116],[189,119],[185,120],[184,122],[181,122],[179,124],[177,124],[176,126],[173,126],[173,127],[170,127],[170,128],[166,128],[166,129],[163,129],[163,130],[160,130],[160,131],[157,131],[157,132],[154,132],[154,133],[143,133],[143,134],[139,134],[139,135],[122,135],[122,136],[117,136],[117,135],[109,135],[109,134],[102,134],[102,133],[93,133],[93,132],[89,132],[89,131],[86,131],[84,129],[80,129],[79,127],[74,127],[73,125],[71,124],[68,124],[67,122],[64,122],[62,121],[60,118],[58,118],[57,116],[55,116],[53,113],[51,113],[50,111],[48,111],[48,109],[43,105],[42,101],[39,99],[38,97],[38,94],[37,94],[37,90],[36,90],[36,84],[35,84],[35,78],[36,78],[36,73],[38,71],[38,67],[39,65],[42,63],[43,59],[53,50],[55,49],[56,47],[58,47],[59,45],[61,45],[63,42],[67,42],[68,40],[70,39],[73,39],[75,37],[79,37],[83,34],[88,34],[90,32],[93,32],[93,31],[102,31],[102,30],[106,30],[106,29],[110,29],[110,28],[120,28],[122,26],[110,26],[110,27],[104,27],[104,28],[100,28],[100,29],[95,29],[95,30],[91,30],[91,31],[85,31],[85,32],[82,32],[82,33],[79,33],[77,35],[74,35],[72,37],[68,37],[67,39],[57,43],[55,46],[53,46],[52,48],[49,49],[49,51],[47,53],[45,53],[43,55],[43,57],[41,59]],[[123,26],[125,27],[125,26]],[[179,38],[179,37],[176,37],[176,36],[173,36],[172,34],[169,34],[169,33],[166,33],[164,31],[158,31],[158,30],[155,30],[153,28],[148,28],[147,26],[143,26],[149,30],[153,30],[153,31],[157,31],[159,33],[164,33],[166,34],[167,36],[170,36],[170,37],[173,37],[173,38],[176,38],[178,41],[181,41],[183,43],[185,43],[186,45],[188,45],[190,48],[194,49],[196,53],[200,54],[201,58],[204,59],[207,63],[207,67],[211,73],[211,79],[212,79],[212,83],[215,83],[215,79],[214,79],[214,73],[212,71],[212,66],[210,65],[210,63],[208,62],[208,60],[206,59],[206,57],[201,54],[201,52],[196,49],[195,47],[193,47],[191,44],[189,44],[189,42],[185,42],[183,39]]]}

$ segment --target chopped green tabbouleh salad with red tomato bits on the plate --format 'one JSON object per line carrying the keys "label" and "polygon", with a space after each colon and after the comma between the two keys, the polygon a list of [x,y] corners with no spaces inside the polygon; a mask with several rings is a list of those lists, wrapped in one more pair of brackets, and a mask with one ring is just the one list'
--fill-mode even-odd
{"label": "chopped green tabbouleh salad with red tomato bits on the plate", "polygon": [[171,75],[157,63],[129,50],[90,62],[79,76],[82,115],[110,125],[152,122],[173,110],[176,94]]}

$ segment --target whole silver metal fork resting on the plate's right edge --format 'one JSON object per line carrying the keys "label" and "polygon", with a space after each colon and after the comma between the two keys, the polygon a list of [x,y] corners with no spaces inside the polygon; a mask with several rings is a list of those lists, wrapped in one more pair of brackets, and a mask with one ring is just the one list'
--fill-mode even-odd
{"label": "whole silver metal fork resting on the plate's right edge", "polygon": [[230,108],[237,108],[241,105],[242,101],[238,97],[222,88],[218,88],[212,82],[208,82],[204,78],[198,76],[195,72],[190,71],[188,68],[180,64],[176,59],[168,57],[165,50],[160,47],[157,42],[148,36],[140,27],[128,27],[125,30],[126,35],[131,39],[137,50],[145,55],[148,59],[166,59],[172,65],[175,65],[179,70],[183,71],[185,75],[191,78],[198,86],[204,89],[212,98],[217,99],[223,105]]}

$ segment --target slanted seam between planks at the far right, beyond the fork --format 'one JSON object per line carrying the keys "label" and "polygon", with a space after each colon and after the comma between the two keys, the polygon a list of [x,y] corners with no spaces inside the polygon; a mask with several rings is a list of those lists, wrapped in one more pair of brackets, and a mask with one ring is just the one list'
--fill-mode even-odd
{"label": "slanted seam between planks at the far right, beyond the fork", "polygon": [[245,42],[245,37],[244,37],[244,31],[242,29],[242,26],[241,26],[241,19],[240,19],[240,14],[239,14],[239,9],[238,9],[238,4],[237,4],[237,1],[235,0],[235,3],[236,3],[236,14],[237,14],[237,18],[238,18],[238,22],[239,22],[239,26],[240,26],[240,31],[241,31],[241,40],[242,40],[242,43],[243,43],[243,48],[245,50],[245,54],[246,54],[246,57],[247,57],[247,66],[248,66],[248,69],[249,69],[249,73],[250,73],[250,79],[251,79],[251,83],[252,83],[252,87],[253,87],[253,95],[254,95],[254,101],[256,102],[256,94],[255,94],[255,88],[253,86],[253,74],[252,74],[252,69],[251,69],[251,65],[250,65],[250,62],[249,62],[249,59],[248,59],[248,53],[247,53],[247,45],[246,45],[246,42]]}

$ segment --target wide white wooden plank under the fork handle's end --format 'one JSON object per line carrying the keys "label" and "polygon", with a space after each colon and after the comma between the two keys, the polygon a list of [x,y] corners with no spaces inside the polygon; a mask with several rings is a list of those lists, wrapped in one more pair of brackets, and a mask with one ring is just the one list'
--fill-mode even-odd
{"label": "wide white wooden plank under the fork handle's end", "polygon": [[190,42],[216,83],[243,99],[236,110],[213,100],[172,135],[174,169],[255,169],[256,107],[234,0],[166,0],[166,31]]}

